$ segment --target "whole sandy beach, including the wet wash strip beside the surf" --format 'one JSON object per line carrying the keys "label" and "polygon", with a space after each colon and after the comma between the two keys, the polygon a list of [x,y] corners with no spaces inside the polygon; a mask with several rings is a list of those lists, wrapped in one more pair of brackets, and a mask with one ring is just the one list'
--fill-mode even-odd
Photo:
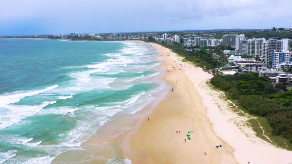
{"label": "whole sandy beach, including the wet wash strip beside the surf", "polygon": [[[230,102],[222,98],[222,92],[208,86],[206,82],[213,77],[211,74],[191,63],[182,62],[183,57],[159,44],[135,42],[149,44],[157,49],[155,52],[162,54],[155,57],[155,60],[164,62],[156,67],[166,74],[159,81],[173,86],[175,91],[167,93],[160,100],[154,100],[158,105],[148,104],[126,120],[120,118],[105,123],[98,133],[81,144],[86,152],[76,155],[72,151],[57,156],[58,159],[62,161],[69,156],[88,164],[103,164],[104,159],[124,159],[126,164],[292,163],[291,151],[276,148],[258,138],[246,123],[248,118],[236,114],[228,107]],[[183,83],[183,86],[176,81]],[[156,97],[159,97],[159,93]],[[193,104],[193,110],[189,109],[190,104]],[[172,112],[166,110],[172,108]],[[117,125],[128,127],[129,124],[135,126],[114,136],[108,132]],[[186,131],[193,129],[194,139],[184,143]],[[175,130],[180,130],[180,133],[176,134]],[[217,145],[224,147],[216,149]],[[83,161],[84,156],[90,156],[92,160]],[[54,160],[52,163],[58,162]]]}

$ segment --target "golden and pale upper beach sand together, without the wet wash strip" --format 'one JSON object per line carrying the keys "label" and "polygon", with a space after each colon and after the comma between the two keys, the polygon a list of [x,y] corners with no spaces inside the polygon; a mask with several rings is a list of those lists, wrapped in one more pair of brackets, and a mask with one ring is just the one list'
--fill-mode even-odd
{"label": "golden and pale upper beach sand together, without the wet wash strip", "polygon": [[[181,62],[168,48],[149,44],[162,54],[157,59],[164,63],[158,69],[165,71],[166,79],[161,80],[174,92],[130,136],[130,150],[125,153],[132,164],[292,164],[291,151],[256,137],[245,123],[248,117],[234,113],[220,98],[222,92],[206,84],[211,74]],[[189,130],[194,131],[192,140],[185,143]]]}

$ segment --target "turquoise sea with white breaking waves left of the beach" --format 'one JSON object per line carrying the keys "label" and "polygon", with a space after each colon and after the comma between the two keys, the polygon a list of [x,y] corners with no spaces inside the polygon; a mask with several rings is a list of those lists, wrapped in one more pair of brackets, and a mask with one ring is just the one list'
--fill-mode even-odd
{"label": "turquoise sea with white breaking waves left of the beach", "polygon": [[0,40],[0,164],[47,164],[117,113],[164,88],[153,47],[135,42]]}

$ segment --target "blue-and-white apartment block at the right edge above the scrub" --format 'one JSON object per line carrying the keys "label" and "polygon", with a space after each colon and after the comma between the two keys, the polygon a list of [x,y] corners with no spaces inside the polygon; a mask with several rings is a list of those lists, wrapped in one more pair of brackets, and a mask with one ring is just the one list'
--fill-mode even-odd
{"label": "blue-and-white apartment block at the right edge above the scrub", "polygon": [[278,65],[280,63],[291,62],[291,52],[290,51],[274,50],[271,56],[272,56],[271,68],[275,67],[276,65]]}

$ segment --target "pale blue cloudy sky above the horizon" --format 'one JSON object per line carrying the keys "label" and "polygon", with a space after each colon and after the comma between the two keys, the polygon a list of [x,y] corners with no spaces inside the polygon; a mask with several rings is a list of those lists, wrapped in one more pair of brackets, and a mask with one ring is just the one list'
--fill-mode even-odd
{"label": "pale blue cloudy sky above the horizon", "polygon": [[292,28],[292,0],[0,0],[0,35]]}

